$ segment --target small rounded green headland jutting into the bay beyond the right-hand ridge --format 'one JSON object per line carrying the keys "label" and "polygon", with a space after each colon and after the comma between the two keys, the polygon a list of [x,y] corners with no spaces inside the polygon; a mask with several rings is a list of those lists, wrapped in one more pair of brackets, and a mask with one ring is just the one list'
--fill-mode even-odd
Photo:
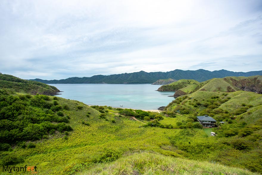
{"label": "small rounded green headland jutting into the bay beyond the right-hand ridge", "polygon": [[160,86],[157,91],[177,91],[178,89],[185,88],[191,84],[197,84],[199,83],[196,80],[185,80],[181,79],[176,82]]}

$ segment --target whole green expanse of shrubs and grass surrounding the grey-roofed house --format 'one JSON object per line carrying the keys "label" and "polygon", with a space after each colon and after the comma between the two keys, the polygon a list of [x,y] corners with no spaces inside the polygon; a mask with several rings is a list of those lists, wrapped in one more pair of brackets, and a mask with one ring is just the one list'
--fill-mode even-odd
{"label": "whole green expanse of shrubs and grass surrounding the grey-roofed house", "polygon": [[[258,175],[261,98],[196,91],[157,113],[0,88],[0,165],[35,165],[44,175]],[[203,129],[196,116],[204,114],[218,126]]]}

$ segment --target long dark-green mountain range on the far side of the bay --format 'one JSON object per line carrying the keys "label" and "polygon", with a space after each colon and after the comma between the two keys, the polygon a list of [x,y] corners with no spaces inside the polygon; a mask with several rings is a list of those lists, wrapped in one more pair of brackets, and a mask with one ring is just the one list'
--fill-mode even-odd
{"label": "long dark-green mountain range on the far side of the bay", "polygon": [[42,83],[112,83],[112,84],[123,84],[123,83],[154,83],[158,79],[168,79],[172,78],[175,80],[180,79],[193,79],[199,82],[209,80],[211,78],[223,78],[227,76],[253,76],[262,75],[262,71],[251,71],[251,72],[232,72],[227,70],[218,71],[208,71],[204,69],[199,70],[173,70],[170,72],[133,72],[124,74],[114,74],[114,75],[94,75],[92,77],[72,77],[62,80],[41,80],[34,79],[34,81],[39,81]]}

